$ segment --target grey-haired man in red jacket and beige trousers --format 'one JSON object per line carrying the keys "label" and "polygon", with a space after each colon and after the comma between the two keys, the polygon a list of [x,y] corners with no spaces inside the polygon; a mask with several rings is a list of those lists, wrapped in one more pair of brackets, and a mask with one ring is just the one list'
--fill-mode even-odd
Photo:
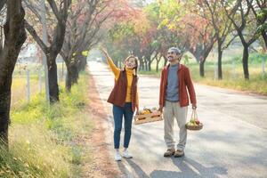
{"label": "grey-haired man in red jacket and beige trousers", "polygon": [[[160,78],[159,109],[163,110],[164,140],[167,150],[164,157],[182,157],[187,139],[185,128],[189,96],[192,108],[197,108],[195,89],[190,78],[190,70],[180,64],[181,51],[171,47],[167,52],[169,64],[162,69]],[[174,142],[174,117],[180,128],[179,142],[175,150]]]}

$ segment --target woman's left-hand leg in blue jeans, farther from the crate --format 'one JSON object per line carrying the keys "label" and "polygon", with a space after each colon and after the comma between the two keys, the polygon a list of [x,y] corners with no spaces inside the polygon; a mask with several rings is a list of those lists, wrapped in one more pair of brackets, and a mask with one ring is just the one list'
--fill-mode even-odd
{"label": "woman's left-hand leg in blue jeans, farther from the crate", "polygon": [[124,109],[113,105],[113,117],[114,117],[114,148],[119,149],[120,132],[122,127],[122,118]]}

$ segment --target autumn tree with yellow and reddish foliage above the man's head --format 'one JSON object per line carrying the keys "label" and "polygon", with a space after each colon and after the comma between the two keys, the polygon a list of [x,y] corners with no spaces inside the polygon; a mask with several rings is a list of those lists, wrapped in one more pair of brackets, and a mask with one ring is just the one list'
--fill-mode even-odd
{"label": "autumn tree with yellow and reddish foliage above the man's head", "polygon": [[206,12],[200,11],[195,1],[168,0],[159,4],[161,27],[168,28],[166,34],[170,34],[168,43],[180,47],[183,53],[192,53],[199,63],[199,74],[204,77],[204,64],[215,42],[213,27],[203,17]]}

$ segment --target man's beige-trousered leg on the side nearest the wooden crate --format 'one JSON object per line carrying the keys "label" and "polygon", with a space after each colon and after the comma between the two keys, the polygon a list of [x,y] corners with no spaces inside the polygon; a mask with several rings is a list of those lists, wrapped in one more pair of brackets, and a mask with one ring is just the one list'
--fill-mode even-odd
{"label": "man's beige-trousered leg on the side nearest the wooden crate", "polygon": [[174,109],[172,102],[166,101],[165,108],[163,109],[164,117],[164,140],[168,150],[175,147],[174,142]]}

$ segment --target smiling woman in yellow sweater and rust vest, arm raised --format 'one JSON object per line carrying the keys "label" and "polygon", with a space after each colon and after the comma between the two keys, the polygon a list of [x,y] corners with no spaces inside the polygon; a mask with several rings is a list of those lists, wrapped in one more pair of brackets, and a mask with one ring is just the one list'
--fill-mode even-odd
{"label": "smiling woman in yellow sweater and rust vest, arm raised", "polygon": [[119,141],[122,128],[122,119],[125,121],[125,137],[124,137],[124,158],[133,158],[129,153],[128,146],[131,139],[132,120],[134,116],[134,110],[138,107],[138,93],[137,93],[137,67],[138,62],[134,55],[130,55],[125,59],[124,69],[118,69],[113,63],[109,54],[101,49],[105,54],[109,64],[109,68],[112,70],[115,76],[115,85],[109,95],[108,102],[113,104],[113,117],[114,117],[114,149],[115,160],[120,161],[122,159],[119,153]]}

